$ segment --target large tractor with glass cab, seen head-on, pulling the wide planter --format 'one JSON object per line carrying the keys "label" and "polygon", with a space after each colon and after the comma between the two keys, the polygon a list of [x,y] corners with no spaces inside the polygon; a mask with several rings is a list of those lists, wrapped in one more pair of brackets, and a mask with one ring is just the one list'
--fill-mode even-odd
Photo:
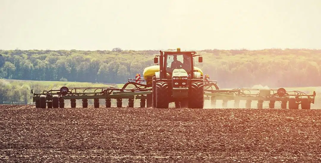
{"label": "large tractor with glass cab, seen head-on, pulling the wide planter", "polygon": [[154,57],[154,65],[144,69],[147,85],[152,86],[152,107],[169,108],[175,102],[176,108],[203,108],[204,79],[201,69],[194,66],[194,57],[203,62],[195,51],[160,51]]}

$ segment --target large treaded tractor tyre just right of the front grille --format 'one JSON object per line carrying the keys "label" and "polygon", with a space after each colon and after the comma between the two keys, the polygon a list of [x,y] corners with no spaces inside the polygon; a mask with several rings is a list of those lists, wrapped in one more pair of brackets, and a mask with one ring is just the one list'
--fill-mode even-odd
{"label": "large treaded tractor tyre just right of the front grille", "polygon": [[204,107],[204,83],[202,80],[191,80],[188,107],[203,109]]}

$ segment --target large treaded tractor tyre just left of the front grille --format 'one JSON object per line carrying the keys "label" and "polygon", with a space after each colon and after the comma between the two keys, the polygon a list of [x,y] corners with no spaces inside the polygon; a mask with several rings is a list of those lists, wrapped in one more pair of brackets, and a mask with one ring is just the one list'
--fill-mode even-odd
{"label": "large treaded tractor tyre just left of the front grille", "polygon": [[168,108],[169,107],[169,84],[164,81],[156,82],[156,108]]}

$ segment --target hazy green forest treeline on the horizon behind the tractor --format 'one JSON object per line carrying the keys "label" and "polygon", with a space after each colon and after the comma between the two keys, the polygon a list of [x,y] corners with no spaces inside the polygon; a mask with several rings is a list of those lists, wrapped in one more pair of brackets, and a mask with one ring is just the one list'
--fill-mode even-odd
{"label": "hazy green forest treeline on the horizon behind the tractor", "polygon": [[[184,49],[182,49],[184,50]],[[220,87],[320,86],[321,50],[203,50],[195,64]],[[5,79],[123,83],[154,65],[159,50],[0,50]]]}

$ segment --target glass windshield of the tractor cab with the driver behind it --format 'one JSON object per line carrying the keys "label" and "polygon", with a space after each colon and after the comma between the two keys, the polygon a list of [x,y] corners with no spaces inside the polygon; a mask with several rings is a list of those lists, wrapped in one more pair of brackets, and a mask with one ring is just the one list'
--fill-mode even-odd
{"label": "glass windshield of the tractor cab with the driver behind it", "polygon": [[191,71],[191,57],[187,54],[169,54],[166,58],[166,71],[172,73],[174,69]]}

